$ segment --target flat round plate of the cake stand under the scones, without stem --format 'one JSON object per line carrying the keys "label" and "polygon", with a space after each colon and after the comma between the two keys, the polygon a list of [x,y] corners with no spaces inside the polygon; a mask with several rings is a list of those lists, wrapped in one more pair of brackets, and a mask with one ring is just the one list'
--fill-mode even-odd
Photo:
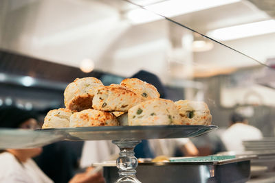
{"label": "flat round plate of the cake stand under the scones, without stem", "polygon": [[67,141],[143,140],[151,138],[187,138],[217,129],[215,125],[104,126],[41,129],[59,132]]}

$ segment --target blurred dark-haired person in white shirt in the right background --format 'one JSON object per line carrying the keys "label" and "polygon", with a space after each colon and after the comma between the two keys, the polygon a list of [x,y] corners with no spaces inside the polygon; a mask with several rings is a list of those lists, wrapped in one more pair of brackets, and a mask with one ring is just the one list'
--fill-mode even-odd
{"label": "blurred dark-haired person in white shirt in the right background", "polygon": [[244,151],[243,141],[259,140],[263,138],[261,131],[248,125],[248,120],[239,113],[232,113],[230,116],[230,127],[221,135],[228,151]]}

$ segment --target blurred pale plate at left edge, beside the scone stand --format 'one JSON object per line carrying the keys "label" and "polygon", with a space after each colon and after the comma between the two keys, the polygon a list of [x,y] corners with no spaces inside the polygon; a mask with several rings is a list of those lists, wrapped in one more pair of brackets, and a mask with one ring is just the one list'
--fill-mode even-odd
{"label": "blurred pale plate at left edge, beside the scone stand", "polygon": [[0,129],[0,149],[25,149],[42,147],[65,138],[58,132],[35,130]]}

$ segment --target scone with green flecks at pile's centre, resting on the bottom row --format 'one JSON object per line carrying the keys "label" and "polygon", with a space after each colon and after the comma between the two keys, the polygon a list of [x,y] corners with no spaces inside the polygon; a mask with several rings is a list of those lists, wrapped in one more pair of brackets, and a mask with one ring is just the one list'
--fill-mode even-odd
{"label": "scone with green flecks at pile's centre, resting on the bottom row", "polygon": [[126,112],[141,101],[143,101],[141,95],[118,84],[113,84],[98,88],[98,92],[94,95],[93,108],[103,111]]}

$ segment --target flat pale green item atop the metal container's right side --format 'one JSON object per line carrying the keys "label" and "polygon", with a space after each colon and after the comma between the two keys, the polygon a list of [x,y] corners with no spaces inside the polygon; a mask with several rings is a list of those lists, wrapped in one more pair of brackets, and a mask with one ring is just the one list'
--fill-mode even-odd
{"label": "flat pale green item atop the metal container's right side", "polygon": [[202,157],[195,157],[195,158],[175,159],[175,160],[170,160],[170,162],[214,162],[214,161],[229,160],[234,158],[236,158],[236,156],[202,156]]}

